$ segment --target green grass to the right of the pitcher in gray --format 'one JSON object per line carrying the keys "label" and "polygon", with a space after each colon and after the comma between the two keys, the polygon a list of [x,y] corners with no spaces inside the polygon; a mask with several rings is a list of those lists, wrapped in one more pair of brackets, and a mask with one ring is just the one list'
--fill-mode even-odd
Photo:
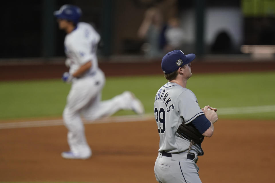
{"label": "green grass to the right of the pitcher in gray", "polygon": [[[275,72],[196,75],[187,88],[201,107],[215,108],[275,105]],[[223,115],[220,118],[275,119],[275,112]]]}

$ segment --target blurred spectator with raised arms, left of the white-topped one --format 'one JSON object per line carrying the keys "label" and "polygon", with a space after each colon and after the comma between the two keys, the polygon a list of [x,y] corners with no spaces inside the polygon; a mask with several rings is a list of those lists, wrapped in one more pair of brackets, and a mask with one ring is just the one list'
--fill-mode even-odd
{"label": "blurred spectator with raised arms, left of the white-topped one", "polygon": [[144,19],[137,35],[141,39],[145,39],[142,49],[148,57],[161,57],[162,47],[166,41],[164,39],[165,25],[163,22],[163,15],[159,8],[149,8],[144,15]]}

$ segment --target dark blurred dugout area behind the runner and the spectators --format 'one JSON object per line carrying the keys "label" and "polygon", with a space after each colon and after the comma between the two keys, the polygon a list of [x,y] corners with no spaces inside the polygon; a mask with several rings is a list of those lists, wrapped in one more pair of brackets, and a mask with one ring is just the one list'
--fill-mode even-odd
{"label": "dark blurred dugout area behind the runner and the spectators", "polygon": [[152,6],[161,10],[164,24],[172,17],[180,20],[184,32],[181,49],[186,53],[248,58],[241,54],[241,45],[274,45],[272,0],[4,1],[1,40],[5,44],[1,44],[0,57],[64,57],[65,33],[58,30],[52,13],[63,4],[78,5],[83,11],[81,20],[99,31],[99,56],[105,61],[143,55],[144,40],[137,38],[137,30]]}

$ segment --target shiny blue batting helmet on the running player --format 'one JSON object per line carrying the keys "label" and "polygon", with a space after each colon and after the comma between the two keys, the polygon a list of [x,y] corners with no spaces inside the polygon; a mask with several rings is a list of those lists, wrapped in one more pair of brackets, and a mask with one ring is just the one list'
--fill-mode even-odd
{"label": "shiny blue batting helmet on the running player", "polygon": [[63,5],[58,11],[54,11],[54,16],[56,18],[70,20],[75,24],[78,23],[81,15],[81,9],[74,5]]}

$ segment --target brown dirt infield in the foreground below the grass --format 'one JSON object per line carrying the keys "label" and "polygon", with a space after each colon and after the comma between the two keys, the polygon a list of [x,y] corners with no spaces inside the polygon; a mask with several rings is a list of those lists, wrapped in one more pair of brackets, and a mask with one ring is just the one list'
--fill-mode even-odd
{"label": "brown dirt infield in the foreground below the grass", "polygon": [[[89,160],[64,160],[64,126],[0,130],[0,182],[156,182],[155,121],[86,124]],[[219,120],[202,144],[202,182],[275,182],[275,121]]]}

